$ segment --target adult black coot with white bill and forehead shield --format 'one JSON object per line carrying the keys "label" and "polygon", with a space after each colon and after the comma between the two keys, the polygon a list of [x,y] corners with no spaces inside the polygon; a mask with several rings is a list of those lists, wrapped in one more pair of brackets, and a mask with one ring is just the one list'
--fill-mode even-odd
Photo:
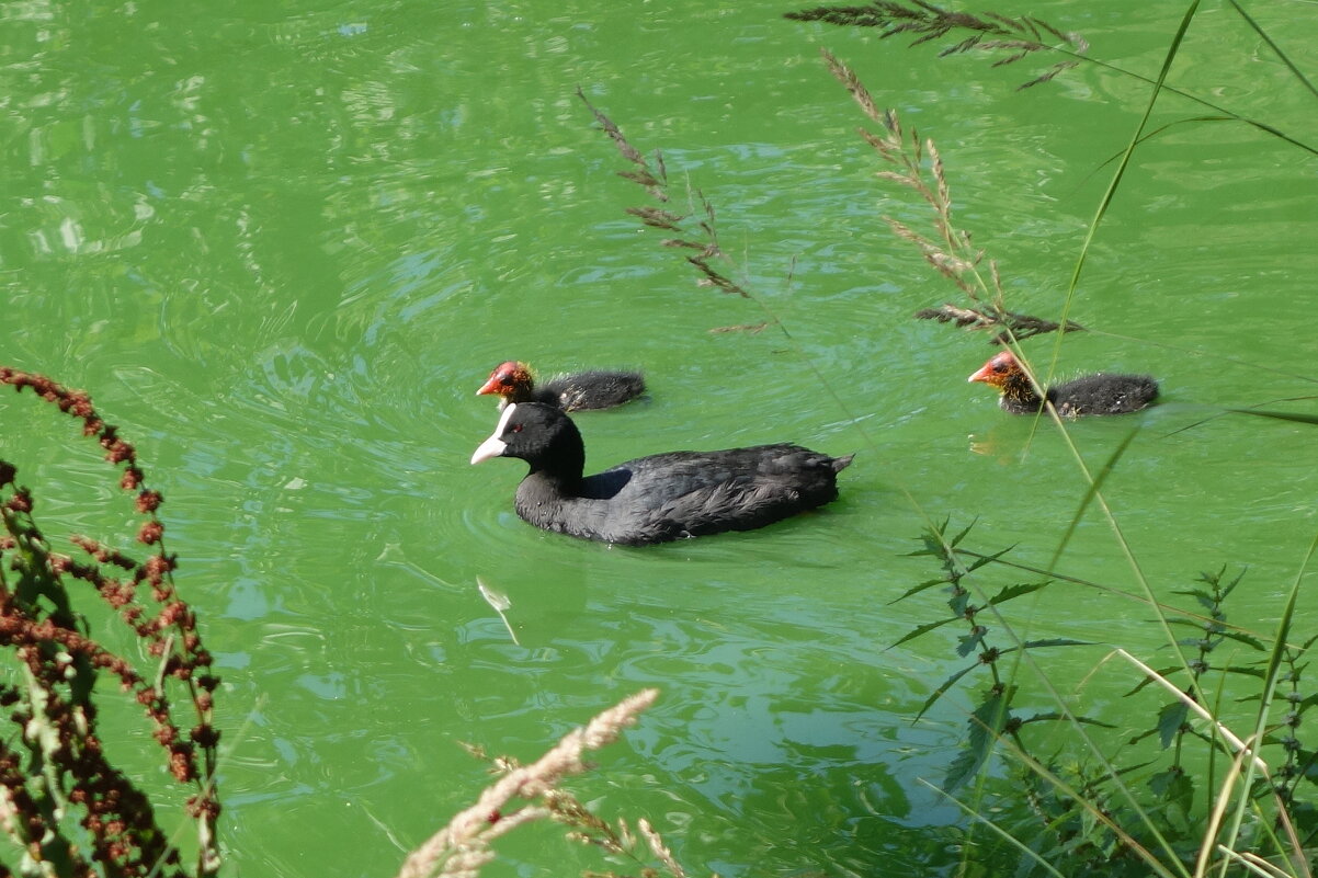
{"label": "adult black coot with white bill and forehead shield", "polygon": [[544,530],[645,546],[684,537],[753,530],[837,498],[837,473],[851,456],[791,444],[729,451],[672,451],[583,477],[585,447],[560,409],[515,402],[472,455],[521,457],[517,514]]}

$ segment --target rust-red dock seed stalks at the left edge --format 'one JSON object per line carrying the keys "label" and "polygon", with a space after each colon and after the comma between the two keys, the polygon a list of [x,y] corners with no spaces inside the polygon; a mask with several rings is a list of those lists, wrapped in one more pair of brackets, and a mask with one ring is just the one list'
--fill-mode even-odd
{"label": "rust-red dock seed stalks at the left edge", "polygon": [[[88,858],[76,854],[74,869],[92,874],[90,863],[104,862],[113,863],[116,874],[146,874],[161,863],[178,863],[178,850],[170,845],[170,834],[154,823],[152,804],[103,755],[95,732],[96,704],[90,695],[96,672],[109,674],[133,692],[154,726],[152,737],[165,750],[170,774],[179,783],[195,787],[187,812],[204,820],[210,825],[204,834],[214,838],[214,821],[220,812],[214,784],[220,733],[212,725],[211,712],[219,678],[211,674],[212,658],[202,646],[196,614],[174,589],[177,559],[163,548],[165,525],[157,517],[163,498],[142,486],[145,476],[136,448],[96,414],[84,392],[5,366],[0,366],[0,384],[17,392],[28,388],[82,421],[83,434],[96,438],[105,460],[123,467],[119,485],[134,494],[136,512],[145,517],[137,542],[153,552],[137,560],[83,537],[72,538],[72,543],[92,563],[50,551],[32,518],[32,492],[16,484],[13,464],[0,460],[0,490],[8,490],[7,496],[0,494],[0,555],[8,554],[0,563],[4,570],[12,567],[42,581],[46,593],[62,596],[54,600],[55,609],[50,609],[46,602],[20,599],[0,577],[0,643],[14,650],[30,679],[42,688],[45,711],[36,720],[54,729],[58,746],[49,758],[69,786],[70,802],[84,812],[82,825],[90,833],[92,850]],[[141,638],[157,663],[148,674],[83,633],[71,609],[76,593],[65,585],[65,579],[91,585]],[[154,601],[154,610],[142,602],[144,593]],[[186,734],[166,695],[166,689],[177,687],[182,687],[196,713],[196,722]],[[30,709],[29,703],[17,686],[0,683],[0,707],[11,711],[12,720],[21,725],[33,721],[34,717],[22,713]],[[16,821],[28,827],[28,837],[36,840],[54,828],[45,824],[49,809],[33,798],[24,763],[18,747],[11,750],[0,744],[0,786],[13,803]]]}

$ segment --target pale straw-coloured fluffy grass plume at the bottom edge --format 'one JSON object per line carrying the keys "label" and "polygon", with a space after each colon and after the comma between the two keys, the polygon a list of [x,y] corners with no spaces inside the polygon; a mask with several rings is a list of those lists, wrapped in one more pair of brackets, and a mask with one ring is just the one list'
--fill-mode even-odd
{"label": "pale straw-coloured fluffy grass plume at the bottom edge", "polygon": [[[531,765],[497,761],[496,765],[505,771],[503,776],[481,792],[476,804],[460,812],[414,850],[403,862],[398,878],[476,878],[481,867],[494,858],[492,841],[525,823],[546,817],[585,832],[602,833],[600,837],[617,840],[621,850],[621,836],[610,836],[613,831],[608,824],[559,790],[559,783],[568,775],[585,771],[589,766],[581,759],[581,754],[617,741],[621,732],[635,722],[637,716],[654,704],[656,697],[659,689],[642,689],[623,699],[585,726],[568,732]],[[540,804],[509,811],[509,803],[514,799],[538,799]],[[609,845],[601,846],[613,852]]]}

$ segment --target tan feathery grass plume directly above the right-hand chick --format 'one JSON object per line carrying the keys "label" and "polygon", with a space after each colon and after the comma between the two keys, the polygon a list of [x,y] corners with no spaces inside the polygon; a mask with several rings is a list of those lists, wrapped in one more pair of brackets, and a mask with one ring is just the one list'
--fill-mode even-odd
{"label": "tan feathery grass plume directly above the right-hand chick", "polygon": [[938,308],[924,308],[916,312],[916,318],[956,323],[969,330],[996,328],[999,332],[990,339],[992,344],[1006,344],[1011,339],[1020,340],[1040,332],[1083,330],[1085,327],[1070,320],[1058,324],[1028,314],[1016,314],[1003,306],[998,262],[987,261],[986,278],[981,270],[985,252],[971,244],[970,232],[958,229],[952,220],[952,187],[948,185],[946,169],[937,146],[932,140],[921,141],[919,132],[913,129],[908,137],[896,112],[880,111],[855,71],[826,49],[821,50],[821,54],[829,73],[851,92],[861,111],[880,127],[878,133],[865,128],[858,129],[865,142],[894,169],[879,171],[879,179],[895,182],[916,192],[933,211],[934,233],[929,237],[890,216],[883,219],[898,237],[915,244],[933,270],[956,283],[973,303],[971,307],[944,305]]}

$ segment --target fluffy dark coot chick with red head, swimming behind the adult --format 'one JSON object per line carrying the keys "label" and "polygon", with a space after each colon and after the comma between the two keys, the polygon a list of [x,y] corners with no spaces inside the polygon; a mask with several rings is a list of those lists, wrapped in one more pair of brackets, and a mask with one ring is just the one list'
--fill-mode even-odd
{"label": "fluffy dark coot chick with red head, swimming behind the adult", "polygon": [[[967,380],[998,388],[1002,392],[999,405],[1012,414],[1033,414],[1043,407],[1043,399],[1011,351],[998,353]],[[1099,372],[1053,385],[1045,397],[1064,417],[1127,414],[1153,402],[1157,381],[1147,374]]]}

